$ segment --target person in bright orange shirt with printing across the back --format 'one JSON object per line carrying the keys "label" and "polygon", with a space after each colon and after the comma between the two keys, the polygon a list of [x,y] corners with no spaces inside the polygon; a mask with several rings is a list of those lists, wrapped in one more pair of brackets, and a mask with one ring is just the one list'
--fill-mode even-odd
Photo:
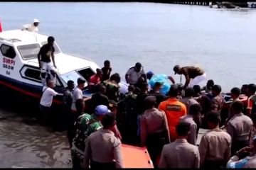
{"label": "person in bright orange shirt with printing across the back", "polygon": [[186,106],[178,101],[178,86],[176,84],[171,85],[169,90],[169,98],[159,104],[159,110],[166,113],[166,118],[169,126],[171,142],[176,140],[176,125],[181,116],[186,115]]}

